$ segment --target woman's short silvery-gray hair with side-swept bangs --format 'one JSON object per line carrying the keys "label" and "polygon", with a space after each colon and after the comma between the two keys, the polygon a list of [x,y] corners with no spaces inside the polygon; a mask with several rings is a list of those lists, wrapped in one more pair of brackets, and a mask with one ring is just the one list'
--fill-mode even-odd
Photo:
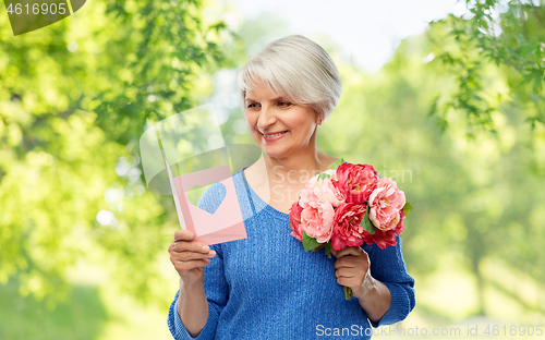
{"label": "woman's short silvery-gray hair with side-swept bangs", "polygon": [[242,68],[239,90],[244,110],[246,90],[255,88],[256,78],[295,104],[311,106],[322,116],[322,122],[331,114],[342,92],[339,72],[329,54],[301,35],[268,44]]}

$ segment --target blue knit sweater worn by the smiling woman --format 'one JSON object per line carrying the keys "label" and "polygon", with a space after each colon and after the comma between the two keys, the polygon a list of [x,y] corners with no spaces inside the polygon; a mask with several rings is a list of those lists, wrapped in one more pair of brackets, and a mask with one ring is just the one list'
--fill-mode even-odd
{"label": "blue knit sweater worn by the smiling woman", "polygon": [[[168,317],[174,339],[370,339],[371,326],[395,324],[413,309],[414,279],[407,272],[400,238],[385,250],[362,245],[372,276],[391,294],[390,308],[373,323],[356,298],[344,299],[335,277],[335,256],[328,258],[324,250],[305,252],[290,235],[289,215],[259,198],[242,170],[233,182],[247,239],[210,246],[217,255],[204,275],[208,320],[192,338],[178,315],[178,292]],[[215,210],[222,191],[222,185],[210,185],[198,207]]]}

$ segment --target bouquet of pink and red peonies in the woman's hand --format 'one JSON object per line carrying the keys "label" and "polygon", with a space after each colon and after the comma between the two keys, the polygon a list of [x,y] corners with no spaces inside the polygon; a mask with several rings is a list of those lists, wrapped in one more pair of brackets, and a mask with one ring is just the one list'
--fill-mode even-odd
{"label": "bouquet of pink and red peonies in the woman's hand", "polygon": [[[342,158],[313,177],[290,208],[291,235],[305,251],[331,247],[341,251],[376,243],[380,248],[396,245],[411,210],[404,193],[390,178],[378,177],[370,165],[353,165]],[[352,290],[344,287],[349,300]]]}

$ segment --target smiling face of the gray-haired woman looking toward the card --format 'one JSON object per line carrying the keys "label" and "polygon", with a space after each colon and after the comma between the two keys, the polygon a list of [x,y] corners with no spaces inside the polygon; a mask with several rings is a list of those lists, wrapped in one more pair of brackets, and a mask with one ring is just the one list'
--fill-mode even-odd
{"label": "smiling face of the gray-haired woman looking toward the card", "polygon": [[319,114],[259,83],[245,96],[246,125],[254,142],[272,158],[298,155],[315,145]]}

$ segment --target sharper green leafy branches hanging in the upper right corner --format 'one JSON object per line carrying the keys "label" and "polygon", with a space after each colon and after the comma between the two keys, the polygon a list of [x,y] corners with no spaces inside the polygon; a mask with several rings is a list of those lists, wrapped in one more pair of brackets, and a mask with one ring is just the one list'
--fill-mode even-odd
{"label": "sharper green leafy branches hanging in the upper right corner", "polygon": [[[530,123],[545,124],[545,5],[537,1],[464,0],[469,13],[432,22],[432,53],[447,65],[457,80],[456,90],[433,99],[431,114],[441,130],[450,121],[448,113],[465,114],[467,137],[475,129],[497,133],[493,112],[518,106]],[[491,89],[485,69],[506,72],[507,88]]]}

